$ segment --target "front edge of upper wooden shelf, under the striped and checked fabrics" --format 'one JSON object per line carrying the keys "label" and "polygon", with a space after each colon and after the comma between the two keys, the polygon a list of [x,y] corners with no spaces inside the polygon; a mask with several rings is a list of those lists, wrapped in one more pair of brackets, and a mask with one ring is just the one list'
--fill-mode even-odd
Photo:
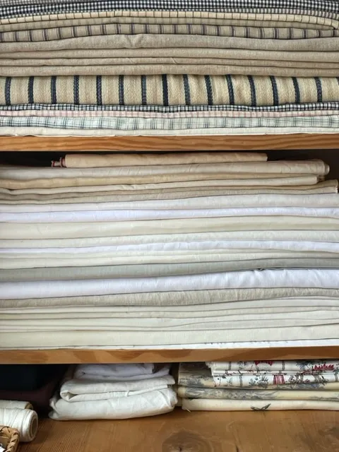
{"label": "front edge of upper wooden shelf, under the striped and checked fabrics", "polygon": [[339,133],[299,133],[251,136],[117,136],[35,137],[2,136],[7,151],[121,151],[121,150],[295,150],[338,149]]}

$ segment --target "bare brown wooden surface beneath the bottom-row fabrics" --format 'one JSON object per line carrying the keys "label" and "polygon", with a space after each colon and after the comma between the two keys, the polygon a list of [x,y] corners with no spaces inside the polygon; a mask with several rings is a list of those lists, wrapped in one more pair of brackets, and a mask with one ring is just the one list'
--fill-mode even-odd
{"label": "bare brown wooden surface beneath the bottom-row fabrics", "polygon": [[339,412],[184,412],[122,421],[42,420],[20,452],[338,452]]}

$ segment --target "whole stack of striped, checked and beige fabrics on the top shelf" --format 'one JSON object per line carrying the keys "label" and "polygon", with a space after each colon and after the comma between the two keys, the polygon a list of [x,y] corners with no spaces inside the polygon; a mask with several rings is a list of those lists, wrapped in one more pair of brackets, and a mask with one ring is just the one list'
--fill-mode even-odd
{"label": "whole stack of striped, checked and beige fabrics on the top shelf", "polygon": [[339,131],[336,0],[2,0],[0,135]]}

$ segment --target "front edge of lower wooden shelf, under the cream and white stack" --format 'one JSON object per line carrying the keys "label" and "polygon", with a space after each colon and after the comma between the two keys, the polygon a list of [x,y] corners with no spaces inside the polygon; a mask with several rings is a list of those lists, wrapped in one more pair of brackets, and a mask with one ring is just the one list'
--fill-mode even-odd
{"label": "front edge of lower wooden shelf, under the cream and white stack", "polygon": [[204,350],[0,350],[0,364],[251,361],[339,358],[339,346]]}

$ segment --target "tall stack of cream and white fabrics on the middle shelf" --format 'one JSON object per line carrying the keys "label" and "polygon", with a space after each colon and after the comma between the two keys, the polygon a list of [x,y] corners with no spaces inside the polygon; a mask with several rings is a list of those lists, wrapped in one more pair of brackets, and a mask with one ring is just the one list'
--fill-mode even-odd
{"label": "tall stack of cream and white fabrics on the middle shelf", "polygon": [[338,339],[338,182],[323,161],[53,165],[0,167],[0,347]]}

